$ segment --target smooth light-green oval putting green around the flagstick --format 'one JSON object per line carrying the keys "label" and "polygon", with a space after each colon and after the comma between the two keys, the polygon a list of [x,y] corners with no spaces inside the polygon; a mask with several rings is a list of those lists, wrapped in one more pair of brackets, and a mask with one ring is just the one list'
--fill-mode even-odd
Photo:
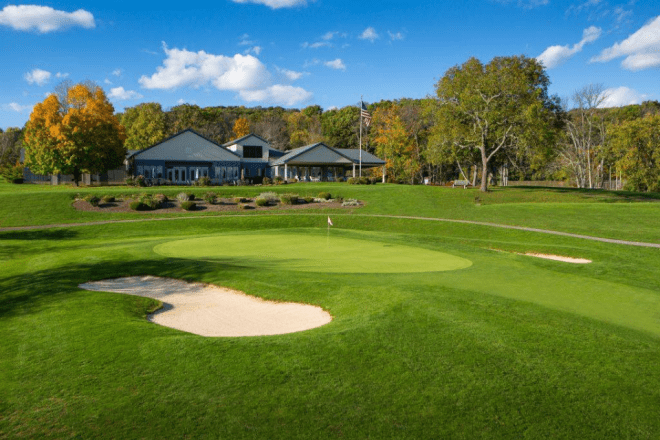
{"label": "smooth light-green oval putting green around the flagstick", "polygon": [[463,269],[470,260],[412,246],[307,233],[227,234],[157,245],[158,254],[304,272],[401,273]]}

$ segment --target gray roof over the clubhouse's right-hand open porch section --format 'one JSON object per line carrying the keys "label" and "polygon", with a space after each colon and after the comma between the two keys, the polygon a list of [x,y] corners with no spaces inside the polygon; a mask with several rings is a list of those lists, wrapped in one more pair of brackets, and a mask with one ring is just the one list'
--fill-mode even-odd
{"label": "gray roof over the clubhouse's right-hand open porch section", "polygon": [[[322,142],[318,142],[316,144],[305,145],[304,147],[291,150],[273,162],[272,165],[352,165],[358,164],[359,162],[360,152],[358,150],[332,148]],[[373,154],[362,151],[362,165],[385,165],[385,161],[377,158]]]}

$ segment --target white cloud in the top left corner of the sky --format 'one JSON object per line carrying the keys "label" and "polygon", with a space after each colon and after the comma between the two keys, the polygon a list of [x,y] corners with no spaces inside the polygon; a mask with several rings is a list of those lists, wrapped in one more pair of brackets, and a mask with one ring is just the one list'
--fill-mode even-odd
{"label": "white cloud in the top left corner of the sky", "polygon": [[96,23],[94,16],[84,9],[64,12],[48,6],[9,5],[0,11],[0,25],[19,31],[36,30],[44,34],[73,26],[91,29]]}

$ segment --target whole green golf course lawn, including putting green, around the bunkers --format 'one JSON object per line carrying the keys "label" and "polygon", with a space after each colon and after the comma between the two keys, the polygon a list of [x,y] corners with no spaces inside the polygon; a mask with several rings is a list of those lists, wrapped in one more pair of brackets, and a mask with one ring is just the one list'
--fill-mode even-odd
{"label": "whole green golf course lawn, including putting green, around the bunkers", "polygon": [[[276,190],[366,205],[0,232],[0,438],[660,436],[659,249],[377,216],[658,243],[653,196]],[[131,190],[0,185],[0,227],[159,216],[78,212],[77,192]],[[514,253],[528,251],[593,263]],[[333,321],[204,338],[150,323],[154,300],[78,288],[147,274],[318,305]]]}

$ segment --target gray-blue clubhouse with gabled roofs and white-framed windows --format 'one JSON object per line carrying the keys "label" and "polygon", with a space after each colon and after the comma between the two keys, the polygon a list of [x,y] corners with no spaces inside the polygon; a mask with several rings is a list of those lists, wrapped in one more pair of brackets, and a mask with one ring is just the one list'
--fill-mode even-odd
{"label": "gray-blue clubhouse with gabled roofs and white-framed windows", "polygon": [[175,185],[189,185],[202,177],[218,185],[240,180],[260,183],[264,177],[277,176],[334,181],[347,175],[355,177],[360,162],[364,169],[380,166],[385,171],[385,161],[366,151],[332,148],[319,142],[282,152],[254,134],[220,145],[191,129],[144,150],[131,151],[126,158],[132,175],[144,176],[150,183]]}

